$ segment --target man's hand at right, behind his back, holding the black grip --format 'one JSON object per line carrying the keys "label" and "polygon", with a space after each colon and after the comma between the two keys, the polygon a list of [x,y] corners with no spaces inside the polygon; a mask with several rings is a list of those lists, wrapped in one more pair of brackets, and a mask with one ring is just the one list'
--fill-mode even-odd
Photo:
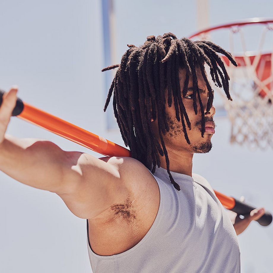
{"label": "man's hand at right, behind his back, holding the black grip", "polygon": [[[240,201],[244,201],[244,197],[241,196]],[[233,223],[234,229],[236,231],[236,234],[239,235],[241,234],[250,224],[251,221],[253,220],[258,220],[259,218],[261,218],[265,213],[264,208],[257,208],[257,209],[253,209],[249,215],[245,216],[244,219],[241,219],[239,217],[239,215],[235,212],[230,211],[230,215],[236,215],[235,219],[234,216],[230,217],[231,218],[231,222]],[[232,219],[233,218],[233,219]]]}

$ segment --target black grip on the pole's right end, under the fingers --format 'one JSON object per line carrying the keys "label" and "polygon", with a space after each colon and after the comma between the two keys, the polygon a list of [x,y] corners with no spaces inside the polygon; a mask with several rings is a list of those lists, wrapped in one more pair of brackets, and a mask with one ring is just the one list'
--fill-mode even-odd
{"label": "black grip on the pole's right end, under the fingers", "polygon": [[[233,197],[234,198],[234,197]],[[232,211],[236,212],[239,215],[243,215],[243,216],[247,216],[250,214],[250,212],[255,209],[255,207],[252,207],[248,204],[245,204],[242,201],[237,200],[236,198],[234,198],[235,200],[235,206],[233,209],[231,209]],[[272,214],[270,212],[265,212],[264,215],[256,220],[261,226],[268,226],[271,222],[272,222]]]}

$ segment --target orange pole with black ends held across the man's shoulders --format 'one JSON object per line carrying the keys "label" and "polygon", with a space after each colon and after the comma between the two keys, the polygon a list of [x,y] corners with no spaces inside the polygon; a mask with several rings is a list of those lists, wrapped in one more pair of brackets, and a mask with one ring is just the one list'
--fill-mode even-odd
{"label": "orange pole with black ends held across the man's shoulders", "polygon": [[[2,104],[3,94],[4,91],[0,90],[0,105]],[[61,118],[57,118],[47,112],[37,109],[36,107],[23,102],[19,98],[17,99],[16,106],[13,109],[12,116],[18,116],[18,118],[38,125],[54,134],[76,142],[102,155],[131,156],[131,152],[128,149],[84,130],[72,123],[62,120]],[[215,190],[214,192],[226,209],[234,211],[239,215],[249,215],[249,213],[255,209],[255,207],[245,204],[233,197],[226,196]],[[262,226],[268,226],[272,222],[271,213],[265,212],[257,222]]]}

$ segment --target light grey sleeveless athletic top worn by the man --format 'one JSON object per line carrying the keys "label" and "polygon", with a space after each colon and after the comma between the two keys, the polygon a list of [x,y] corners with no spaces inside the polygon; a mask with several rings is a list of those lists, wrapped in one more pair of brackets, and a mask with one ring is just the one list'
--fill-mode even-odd
{"label": "light grey sleeveless athletic top worn by the man", "polygon": [[211,185],[201,175],[156,168],[160,204],[153,225],[134,247],[101,256],[87,246],[93,273],[240,273],[237,235]]}

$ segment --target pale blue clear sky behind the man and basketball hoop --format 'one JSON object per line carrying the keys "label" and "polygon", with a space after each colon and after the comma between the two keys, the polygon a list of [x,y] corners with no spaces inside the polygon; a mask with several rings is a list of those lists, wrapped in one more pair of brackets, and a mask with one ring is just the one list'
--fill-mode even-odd
{"label": "pale blue clear sky behind the man and basketball hoop", "polygon": [[[239,4],[238,4],[239,3]],[[209,1],[210,23],[272,16],[272,1]],[[146,36],[196,31],[195,1],[115,1],[117,56]],[[106,131],[101,2],[99,0],[0,1],[0,88],[17,84],[29,104],[123,145],[119,131]],[[255,39],[255,38],[254,38]],[[119,61],[119,60],[118,60]],[[112,111],[109,107],[107,111]],[[226,118],[213,149],[194,157],[193,171],[215,190],[273,211],[272,150],[230,145]],[[12,118],[7,133],[48,139],[64,150],[91,152]],[[91,272],[86,221],[55,194],[0,173],[0,272]],[[242,273],[272,272],[272,225],[251,223],[238,237]]]}

